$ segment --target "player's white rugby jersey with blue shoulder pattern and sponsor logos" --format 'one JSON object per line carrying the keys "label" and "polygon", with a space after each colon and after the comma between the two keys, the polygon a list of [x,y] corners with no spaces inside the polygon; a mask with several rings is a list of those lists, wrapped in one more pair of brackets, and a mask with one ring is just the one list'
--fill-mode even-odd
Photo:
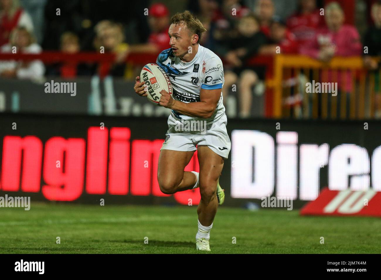
{"label": "player's white rugby jersey with blue shoulder pattern and sponsor logos", "polygon": [[[162,67],[171,80],[175,100],[185,103],[200,102],[200,90],[222,89],[224,85],[224,69],[221,59],[213,51],[199,44],[199,50],[191,62],[183,62],[172,53],[172,49],[162,51],[156,63]],[[211,118],[194,118],[172,110],[172,114],[184,120],[206,120],[212,123],[225,115],[223,97],[219,98],[217,107]]]}

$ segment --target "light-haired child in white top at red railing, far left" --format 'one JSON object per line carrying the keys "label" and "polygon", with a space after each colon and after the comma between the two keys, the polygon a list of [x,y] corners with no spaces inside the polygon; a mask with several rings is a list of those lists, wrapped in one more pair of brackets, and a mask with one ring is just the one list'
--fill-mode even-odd
{"label": "light-haired child in white top at red railing, far left", "polygon": [[[10,43],[1,47],[2,53],[38,54],[42,52],[40,45],[34,42],[32,34],[25,27],[16,27],[11,33]],[[7,78],[40,80],[43,78],[45,67],[42,61],[1,61],[0,76]]]}

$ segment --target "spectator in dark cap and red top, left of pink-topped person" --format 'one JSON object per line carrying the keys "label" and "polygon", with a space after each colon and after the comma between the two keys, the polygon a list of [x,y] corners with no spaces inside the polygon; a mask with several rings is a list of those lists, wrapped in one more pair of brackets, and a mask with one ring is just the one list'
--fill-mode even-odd
{"label": "spectator in dark cap and red top, left of pink-topped person", "polygon": [[298,53],[298,42],[295,35],[287,29],[286,23],[280,18],[275,18],[272,22],[269,44],[261,47],[259,53],[267,55],[275,54],[277,46],[280,47],[280,53]]}

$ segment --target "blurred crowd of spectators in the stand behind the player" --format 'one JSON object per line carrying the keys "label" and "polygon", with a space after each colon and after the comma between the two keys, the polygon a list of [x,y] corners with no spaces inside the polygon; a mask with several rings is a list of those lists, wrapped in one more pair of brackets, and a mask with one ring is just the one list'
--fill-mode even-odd
{"label": "blurred crowd of spectators in the stand behind the player", "polygon": [[[231,85],[237,85],[240,116],[247,117],[253,91],[264,91],[263,67],[247,63],[256,55],[304,54],[324,62],[335,56],[363,56],[365,67],[379,70],[380,63],[371,57],[381,55],[381,2],[337,1],[0,0],[0,51],[12,53],[16,47],[21,53],[78,53],[103,47],[116,57],[111,75],[133,79],[139,67],[126,63],[128,56],[169,48],[170,16],[190,10],[207,29],[201,44],[224,62],[224,100],[232,93]],[[70,78],[96,71],[91,64],[0,62],[2,77]],[[381,116],[380,96],[376,106]]]}

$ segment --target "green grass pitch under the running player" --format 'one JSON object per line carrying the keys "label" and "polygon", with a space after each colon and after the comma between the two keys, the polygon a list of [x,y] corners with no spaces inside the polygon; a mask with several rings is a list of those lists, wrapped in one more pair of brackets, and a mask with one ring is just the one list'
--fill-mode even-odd
{"label": "green grass pitch under the running player", "polygon": [[[206,253],[195,249],[196,209],[48,203],[33,203],[29,211],[0,208],[0,253]],[[211,253],[380,253],[381,221],[221,206],[210,247]]]}

